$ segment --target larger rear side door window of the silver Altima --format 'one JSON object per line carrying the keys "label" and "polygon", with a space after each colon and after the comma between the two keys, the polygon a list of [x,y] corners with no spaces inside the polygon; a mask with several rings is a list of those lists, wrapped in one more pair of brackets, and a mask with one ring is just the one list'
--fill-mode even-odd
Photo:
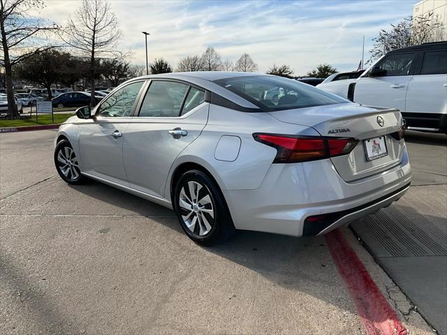
{"label": "larger rear side door window of the silver Altima", "polygon": [[140,117],[178,117],[188,85],[154,80],[142,102]]}

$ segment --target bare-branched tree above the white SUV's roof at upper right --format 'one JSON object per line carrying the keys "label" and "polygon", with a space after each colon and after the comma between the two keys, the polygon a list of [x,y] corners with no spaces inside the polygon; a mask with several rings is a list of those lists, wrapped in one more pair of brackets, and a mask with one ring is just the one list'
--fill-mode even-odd
{"label": "bare-branched tree above the white SUV's roof at upper right", "polygon": [[408,17],[397,24],[391,24],[390,30],[382,29],[379,36],[373,39],[374,45],[369,50],[371,53],[369,62],[401,47],[444,40],[447,36],[443,34],[443,27],[444,24],[439,20],[439,16],[433,13]]}

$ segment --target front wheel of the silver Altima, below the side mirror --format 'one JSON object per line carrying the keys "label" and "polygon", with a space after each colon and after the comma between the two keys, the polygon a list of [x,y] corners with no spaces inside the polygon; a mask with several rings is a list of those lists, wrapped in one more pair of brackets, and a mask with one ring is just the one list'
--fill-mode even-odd
{"label": "front wheel of the silver Altima, below the side mirror", "polygon": [[54,149],[54,165],[56,165],[59,176],[67,184],[78,185],[84,184],[87,181],[87,177],[83,176],[80,172],[78,158],[68,140],[61,140],[57,143]]}

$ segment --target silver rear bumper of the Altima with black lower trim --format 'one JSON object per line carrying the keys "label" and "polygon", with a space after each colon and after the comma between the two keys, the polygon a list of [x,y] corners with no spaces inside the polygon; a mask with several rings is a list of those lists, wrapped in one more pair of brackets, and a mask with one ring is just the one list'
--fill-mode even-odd
{"label": "silver rear bumper of the Altima with black lower trim", "polygon": [[[224,191],[237,229],[302,236],[325,234],[374,213],[408,190],[411,167],[404,147],[402,161],[386,171],[344,181],[330,160],[273,164],[256,190]],[[314,226],[309,216],[332,214]]]}

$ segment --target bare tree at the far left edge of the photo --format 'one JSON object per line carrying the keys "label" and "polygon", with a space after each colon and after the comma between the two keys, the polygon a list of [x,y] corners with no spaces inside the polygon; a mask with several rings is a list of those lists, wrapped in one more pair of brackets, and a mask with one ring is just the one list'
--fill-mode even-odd
{"label": "bare tree at the far left edge of the photo", "polygon": [[13,66],[20,64],[34,54],[48,50],[43,45],[45,33],[57,29],[55,24],[29,16],[29,10],[43,8],[41,0],[0,0],[1,47],[0,66],[5,69],[5,86],[8,100],[8,114],[11,119],[19,116],[15,105],[13,89]]}

